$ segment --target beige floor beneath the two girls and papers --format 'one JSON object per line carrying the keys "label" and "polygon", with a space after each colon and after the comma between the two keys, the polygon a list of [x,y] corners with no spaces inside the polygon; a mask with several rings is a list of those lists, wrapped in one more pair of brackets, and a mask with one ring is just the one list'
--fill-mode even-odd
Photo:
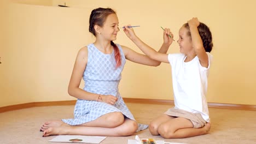
{"label": "beige floor beneath the two girls and papers", "polygon": [[[149,124],[172,105],[126,103],[138,123]],[[73,105],[32,107],[0,113],[0,143],[52,143],[55,136],[42,137],[40,126],[50,120],[73,118]],[[132,136],[107,137],[101,143],[127,143],[135,135],[179,143],[256,143],[256,111],[210,108],[211,131],[207,135],[186,139],[162,139],[149,130]],[[53,144],[57,144],[54,142]],[[63,143],[62,143],[63,144]]]}

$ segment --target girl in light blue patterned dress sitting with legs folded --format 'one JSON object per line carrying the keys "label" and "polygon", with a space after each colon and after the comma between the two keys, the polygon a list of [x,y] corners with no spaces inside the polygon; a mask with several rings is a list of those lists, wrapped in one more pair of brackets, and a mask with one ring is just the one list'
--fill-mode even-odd
{"label": "girl in light blue patterned dress sitting with legs folded", "polygon": [[[147,128],[147,125],[137,124],[120,96],[118,85],[126,59],[155,67],[161,62],[113,43],[119,32],[114,10],[94,9],[89,22],[89,31],[96,40],[79,50],[68,86],[69,95],[78,99],[74,118],[45,122],[40,129],[44,131],[43,136],[127,136]],[[171,38],[164,34],[159,52],[166,53],[170,44]],[[83,89],[79,88],[82,77]]]}

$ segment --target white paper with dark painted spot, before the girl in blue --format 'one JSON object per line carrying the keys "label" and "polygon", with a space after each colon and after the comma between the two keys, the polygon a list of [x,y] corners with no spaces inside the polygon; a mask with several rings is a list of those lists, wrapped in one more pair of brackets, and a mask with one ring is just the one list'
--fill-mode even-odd
{"label": "white paper with dark painted spot, before the girl in blue", "polygon": [[59,135],[49,142],[100,143],[106,136]]}

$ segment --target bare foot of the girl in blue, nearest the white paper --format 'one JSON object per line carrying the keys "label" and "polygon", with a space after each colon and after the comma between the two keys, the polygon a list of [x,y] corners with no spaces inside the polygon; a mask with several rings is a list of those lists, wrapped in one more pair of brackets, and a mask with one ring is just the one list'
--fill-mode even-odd
{"label": "bare foot of the girl in blue, nearest the white paper", "polygon": [[61,126],[61,127],[49,127],[48,129],[44,130],[44,136],[50,136],[50,135],[67,135],[67,129],[68,126]]}

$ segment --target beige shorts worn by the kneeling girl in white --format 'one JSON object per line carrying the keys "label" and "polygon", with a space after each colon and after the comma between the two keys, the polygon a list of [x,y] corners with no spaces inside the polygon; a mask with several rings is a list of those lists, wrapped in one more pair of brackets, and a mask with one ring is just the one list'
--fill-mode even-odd
{"label": "beige shorts worn by the kneeling girl in white", "polygon": [[193,123],[194,128],[201,128],[207,123],[205,119],[202,118],[200,113],[192,113],[192,112],[184,111],[181,109],[172,108],[172,109],[168,109],[165,112],[165,114],[173,117],[187,118]]}

